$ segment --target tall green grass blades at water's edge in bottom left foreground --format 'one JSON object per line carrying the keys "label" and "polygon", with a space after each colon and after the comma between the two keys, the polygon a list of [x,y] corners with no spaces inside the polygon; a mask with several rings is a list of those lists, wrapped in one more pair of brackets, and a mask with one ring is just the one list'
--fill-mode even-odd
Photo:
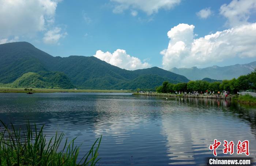
{"label": "tall green grass blades at water's edge in bottom left foreground", "polygon": [[[2,125],[4,123],[1,121]],[[101,138],[98,138],[91,149],[78,161],[80,146],[75,146],[73,139],[60,149],[64,134],[56,132],[55,137],[46,141],[42,126],[34,130],[28,123],[23,133],[11,124],[10,129],[4,125],[0,132],[0,166],[94,166],[98,162],[98,149]],[[97,145],[98,144],[98,145]]]}

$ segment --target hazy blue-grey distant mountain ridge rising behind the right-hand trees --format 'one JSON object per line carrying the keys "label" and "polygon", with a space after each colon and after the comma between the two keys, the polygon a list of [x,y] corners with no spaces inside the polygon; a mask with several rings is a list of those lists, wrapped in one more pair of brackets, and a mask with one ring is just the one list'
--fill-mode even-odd
{"label": "hazy blue-grey distant mountain ridge rising behind the right-hand trees", "polygon": [[212,66],[206,68],[172,68],[171,72],[184,75],[190,80],[202,80],[203,78],[211,78],[216,80],[238,78],[240,75],[246,75],[254,71],[256,61],[248,64],[235,64],[232,66]]}

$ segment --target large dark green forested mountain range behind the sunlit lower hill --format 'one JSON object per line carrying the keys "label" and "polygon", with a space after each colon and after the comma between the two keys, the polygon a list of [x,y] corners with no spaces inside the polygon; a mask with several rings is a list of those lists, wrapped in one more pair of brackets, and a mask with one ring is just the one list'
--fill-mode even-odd
{"label": "large dark green forested mountain range behind the sunlit lower hill", "polygon": [[[62,87],[74,85],[88,89],[155,88],[162,84],[162,80],[172,83],[189,81],[185,76],[158,67],[129,71],[94,56],[53,57],[27,42],[0,44],[0,83],[12,83],[28,72],[37,73],[43,78],[46,73],[54,75],[53,72],[59,72],[63,74],[59,83],[61,80],[65,82]],[[40,82],[40,77],[37,77]]]}

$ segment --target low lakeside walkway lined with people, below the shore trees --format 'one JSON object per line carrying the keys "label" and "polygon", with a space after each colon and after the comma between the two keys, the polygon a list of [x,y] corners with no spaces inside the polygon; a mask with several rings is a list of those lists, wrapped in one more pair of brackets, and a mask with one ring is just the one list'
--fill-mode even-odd
{"label": "low lakeside walkway lined with people, below the shore trees", "polygon": [[207,98],[207,99],[229,99],[231,100],[234,96],[229,95],[225,96],[218,96],[218,95],[176,95],[176,94],[163,94],[163,93],[133,93],[133,95],[142,95],[142,96],[165,96],[165,97],[183,97],[183,98]]}

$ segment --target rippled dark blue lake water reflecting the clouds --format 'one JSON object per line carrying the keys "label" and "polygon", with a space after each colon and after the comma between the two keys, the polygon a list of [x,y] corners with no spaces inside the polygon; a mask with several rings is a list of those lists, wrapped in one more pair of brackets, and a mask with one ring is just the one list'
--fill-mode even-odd
{"label": "rippled dark blue lake water reflecting the clouds", "polygon": [[[214,139],[249,141],[256,157],[256,107],[230,100],[161,98],[128,93],[1,94],[0,119],[27,120],[44,134],[77,137],[80,155],[102,135],[98,165],[205,165]],[[80,157],[81,157],[80,156]],[[245,155],[233,154],[232,157]]]}

